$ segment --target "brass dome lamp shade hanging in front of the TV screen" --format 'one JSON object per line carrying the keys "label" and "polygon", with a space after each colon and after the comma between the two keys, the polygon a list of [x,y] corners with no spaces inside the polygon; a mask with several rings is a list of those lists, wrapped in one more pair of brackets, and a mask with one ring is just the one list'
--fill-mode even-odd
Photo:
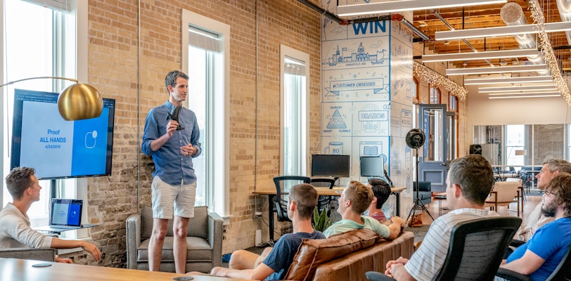
{"label": "brass dome lamp shade hanging in front of the TV screen", "polygon": [[58,110],[68,121],[95,118],[103,111],[103,99],[93,86],[77,83],[61,91]]}

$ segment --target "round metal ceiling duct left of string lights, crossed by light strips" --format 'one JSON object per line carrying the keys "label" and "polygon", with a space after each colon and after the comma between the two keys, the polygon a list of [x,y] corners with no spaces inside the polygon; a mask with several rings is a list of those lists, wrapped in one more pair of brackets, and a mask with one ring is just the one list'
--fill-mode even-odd
{"label": "round metal ceiling duct left of string lights, crossed by light strips", "polygon": [[[515,2],[509,2],[508,4],[503,5],[503,7],[501,7],[500,16],[507,26],[527,25],[527,20],[525,19],[522,7]],[[515,41],[518,41],[518,44],[520,44],[520,48],[537,48],[537,41],[535,40],[534,34],[518,34],[513,37],[515,37]],[[527,57],[527,60],[534,65],[545,63],[545,60],[541,55],[529,56]]]}

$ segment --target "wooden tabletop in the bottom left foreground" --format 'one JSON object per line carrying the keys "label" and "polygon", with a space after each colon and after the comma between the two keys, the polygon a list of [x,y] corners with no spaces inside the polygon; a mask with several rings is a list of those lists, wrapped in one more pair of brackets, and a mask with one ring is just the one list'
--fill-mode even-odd
{"label": "wooden tabletop in the bottom left foreground", "polygon": [[[46,267],[32,267],[35,264],[49,264]],[[177,273],[150,272],[127,268],[108,268],[104,266],[84,266],[29,259],[0,258],[0,280],[18,281],[172,281],[174,277],[184,276]],[[244,281],[226,277],[191,275],[194,281]]]}

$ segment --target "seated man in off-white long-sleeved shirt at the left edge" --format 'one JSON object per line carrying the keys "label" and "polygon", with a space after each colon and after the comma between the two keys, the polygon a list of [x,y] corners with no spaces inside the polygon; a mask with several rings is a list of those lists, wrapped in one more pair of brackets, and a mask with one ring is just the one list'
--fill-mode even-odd
{"label": "seated man in off-white long-sleeved shirt at the left edge", "polygon": [[[101,251],[94,244],[82,240],[62,240],[43,235],[30,228],[27,210],[39,200],[38,178],[32,168],[14,168],[6,176],[6,187],[13,202],[0,211],[0,248],[56,248],[72,249],[82,247],[89,251],[96,261],[101,259]],[[60,259],[59,263],[73,263],[71,259]]]}

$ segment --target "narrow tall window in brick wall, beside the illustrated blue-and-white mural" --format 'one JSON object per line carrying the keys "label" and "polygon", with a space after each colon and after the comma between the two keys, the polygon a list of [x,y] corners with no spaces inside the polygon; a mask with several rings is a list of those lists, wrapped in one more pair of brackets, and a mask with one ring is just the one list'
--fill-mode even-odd
{"label": "narrow tall window in brick wall, beside the illustrated blue-and-white mural", "polygon": [[309,55],[281,45],[281,174],[306,175],[309,148],[307,104]]}

